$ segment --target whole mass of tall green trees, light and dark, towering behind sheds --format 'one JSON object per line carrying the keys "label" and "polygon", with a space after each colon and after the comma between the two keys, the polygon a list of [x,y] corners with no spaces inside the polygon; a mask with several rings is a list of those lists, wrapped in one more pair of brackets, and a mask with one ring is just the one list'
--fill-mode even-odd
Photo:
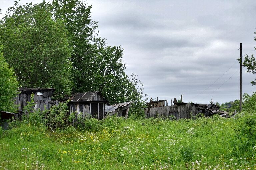
{"label": "whole mass of tall green trees, light and dark, towering behind sheds", "polygon": [[123,48],[98,36],[91,6],[80,0],[10,7],[0,23],[6,61],[23,87],[55,88],[55,98],[100,91],[110,104],[134,101],[141,113],[143,84],[125,74]]}

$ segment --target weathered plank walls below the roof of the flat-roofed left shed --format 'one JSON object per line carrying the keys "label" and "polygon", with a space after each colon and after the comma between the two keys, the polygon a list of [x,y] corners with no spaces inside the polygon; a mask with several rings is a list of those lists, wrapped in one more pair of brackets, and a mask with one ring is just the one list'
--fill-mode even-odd
{"label": "weathered plank walls below the roof of the flat-roofed left shed", "polygon": [[[37,93],[34,94],[34,103],[36,109],[40,109],[43,111],[46,107],[46,109],[49,109],[53,104],[48,103],[52,99],[52,91],[43,92],[42,95],[37,95]],[[15,98],[14,104],[19,106],[18,111],[22,112],[23,107],[27,106],[27,102],[31,102],[31,94],[26,93],[19,93],[17,97]]]}

